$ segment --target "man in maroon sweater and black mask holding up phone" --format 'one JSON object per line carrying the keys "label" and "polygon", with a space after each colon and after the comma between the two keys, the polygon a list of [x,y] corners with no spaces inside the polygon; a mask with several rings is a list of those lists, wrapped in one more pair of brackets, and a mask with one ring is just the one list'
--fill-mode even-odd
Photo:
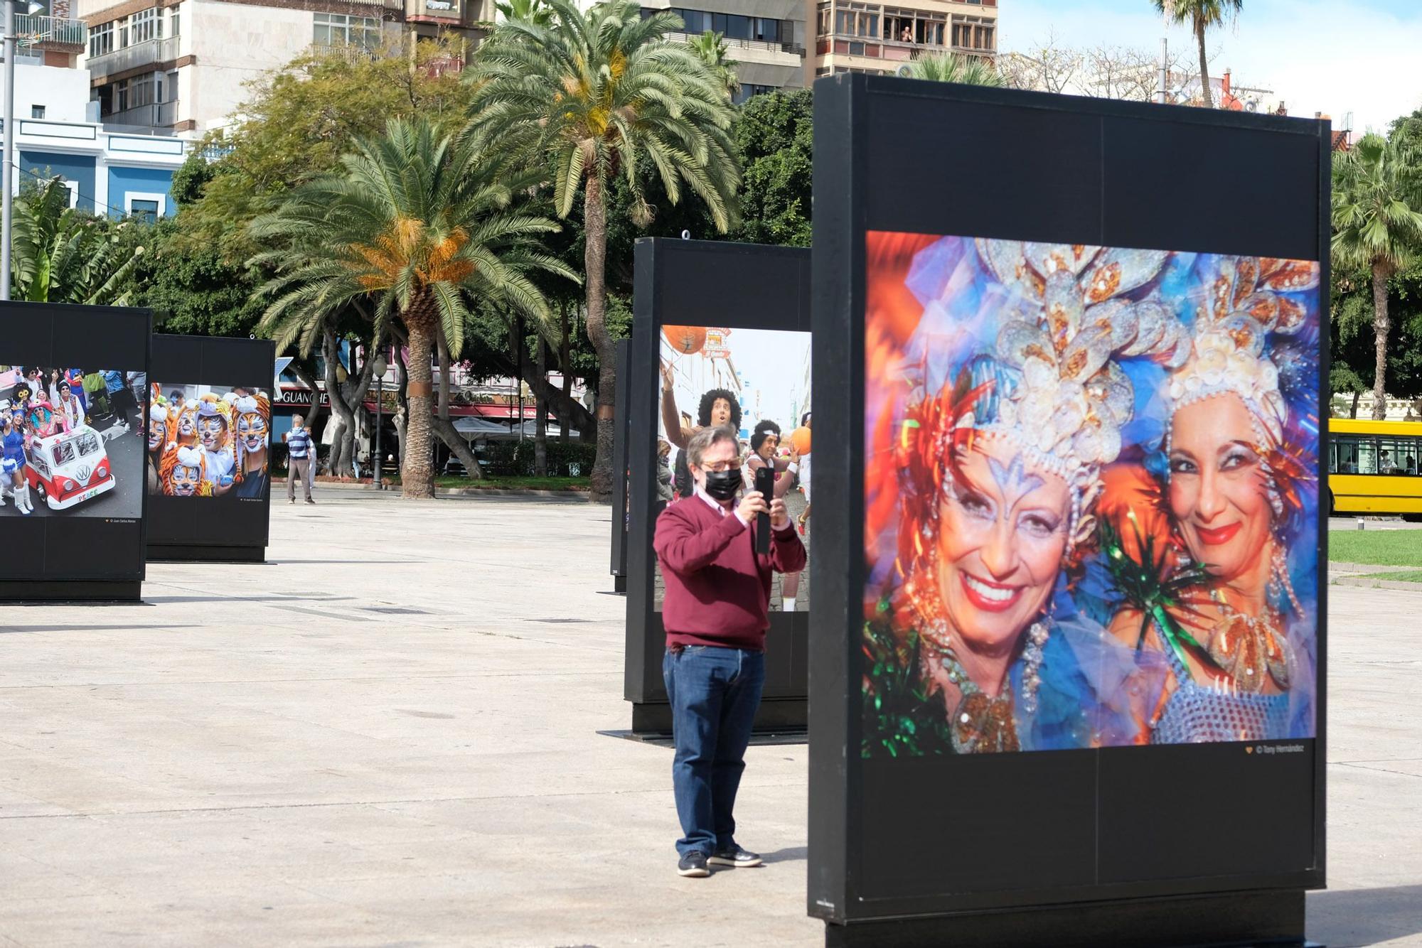
{"label": "man in maroon sweater and black mask holding up phone", "polygon": [[[784,500],[748,492],[737,505],[741,469],[735,435],[702,428],[687,442],[695,492],[657,517],[653,547],[665,597],[667,652],[661,675],[671,699],[677,753],[671,783],[683,837],[681,876],[707,864],[759,866],[735,841],[735,792],[765,684],[771,573],[805,567],[805,547]],[[771,551],[755,551],[755,517],[771,515]]]}

